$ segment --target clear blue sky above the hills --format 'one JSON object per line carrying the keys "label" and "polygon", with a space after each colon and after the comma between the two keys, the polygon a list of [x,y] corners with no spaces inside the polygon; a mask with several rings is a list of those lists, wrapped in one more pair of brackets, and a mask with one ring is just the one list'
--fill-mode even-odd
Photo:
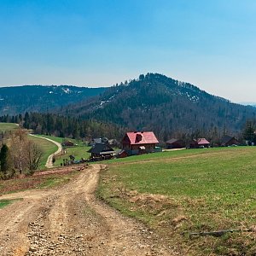
{"label": "clear blue sky above the hills", "polygon": [[163,73],[256,102],[254,0],[0,0],[0,86]]}

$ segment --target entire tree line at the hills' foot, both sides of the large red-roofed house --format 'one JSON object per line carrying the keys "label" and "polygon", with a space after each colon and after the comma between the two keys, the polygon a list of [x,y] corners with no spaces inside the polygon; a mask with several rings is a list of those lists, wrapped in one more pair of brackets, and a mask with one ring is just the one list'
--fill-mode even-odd
{"label": "entire tree line at the hills' foot, both sides of the large red-roofed house", "polygon": [[[115,125],[108,122],[99,122],[95,119],[82,119],[75,117],[66,117],[55,113],[25,113],[15,116],[4,115],[0,117],[0,122],[13,122],[23,125],[24,128],[32,130],[37,134],[53,135],[56,137],[71,137],[74,139],[84,139],[90,141],[94,137],[108,137],[121,140],[124,137],[125,131],[128,129],[120,125]],[[176,131],[166,131],[158,125],[154,129],[148,126],[147,131],[154,131],[155,135],[162,143],[166,140],[175,137],[183,139],[189,143],[192,139],[206,137],[212,145],[219,145],[220,140],[224,135],[235,136],[241,143],[247,140],[249,144],[256,143],[256,119],[248,119],[243,125],[241,131],[230,131],[227,125],[218,127],[197,128],[193,131],[187,130],[185,127]],[[146,131],[145,130],[145,131]],[[131,130],[130,130],[131,131]],[[140,131],[140,129],[137,129]],[[3,137],[3,132],[0,138]]]}

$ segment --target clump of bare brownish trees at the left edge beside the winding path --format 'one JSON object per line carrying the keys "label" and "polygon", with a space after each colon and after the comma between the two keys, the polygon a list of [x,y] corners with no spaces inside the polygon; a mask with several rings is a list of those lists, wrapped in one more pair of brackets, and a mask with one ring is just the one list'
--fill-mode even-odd
{"label": "clump of bare brownish trees at the left edge beside the winding path", "polygon": [[43,151],[38,144],[27,138],[26,131],[18,129],[9,133],[0,151],[0,178],[15,174],[32,174],[38,169]]}

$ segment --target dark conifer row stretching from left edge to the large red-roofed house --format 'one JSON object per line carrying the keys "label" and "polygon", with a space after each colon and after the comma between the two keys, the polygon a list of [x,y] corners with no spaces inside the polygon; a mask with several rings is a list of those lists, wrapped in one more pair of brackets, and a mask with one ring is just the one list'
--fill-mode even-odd
{"label": "dark conifer row stretching from left edge to the large red-roofed house", "polygon": [[93,119],[65,117],[55,113],[25,113],[25,115],[0,117],[0,122],[17,122],[26,129],[38,134],[55,135],[57,137],[83,138],[93,137],[120,138],[124,129],[119,125],[99,122]]}

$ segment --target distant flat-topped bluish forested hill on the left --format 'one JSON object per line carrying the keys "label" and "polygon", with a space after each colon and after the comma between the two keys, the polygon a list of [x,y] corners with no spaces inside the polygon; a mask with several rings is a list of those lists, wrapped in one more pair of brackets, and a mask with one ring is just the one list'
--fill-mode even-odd
{"label": "distant flat-topped bluish forested hill on the left", "polygon": [[105,88],[24,85],[0,88],[0,115],[44,112],[101,94]]}

